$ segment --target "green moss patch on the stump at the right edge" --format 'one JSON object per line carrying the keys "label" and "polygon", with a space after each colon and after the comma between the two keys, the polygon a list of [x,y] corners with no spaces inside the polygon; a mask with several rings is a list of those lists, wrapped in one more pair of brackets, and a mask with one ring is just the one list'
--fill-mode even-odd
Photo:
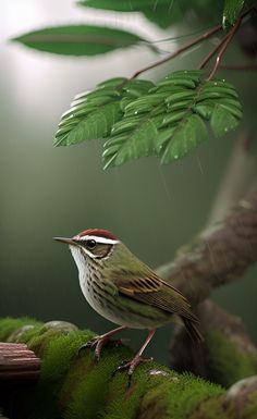
{"label": "green moss patch on the stump at the right edge", "polygon": [[207,377],[225,387],[257,372],[257,357],[241,353],[233,342],[220,332],[206,335],[208,347]]}

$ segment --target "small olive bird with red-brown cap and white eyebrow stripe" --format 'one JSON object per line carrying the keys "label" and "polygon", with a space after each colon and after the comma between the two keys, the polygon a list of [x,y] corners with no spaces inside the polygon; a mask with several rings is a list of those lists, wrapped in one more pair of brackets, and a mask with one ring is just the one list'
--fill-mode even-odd
{"label": "small olive bird with red-brown cap and white eyebrow stripe", "polygon": [[114,234],[90,229],[72,238],[54,239],[69,245],[78,269],[82,292],[89,305],[99,315],[119,324],[119,328],[83,345],[95,347],[98,360],[110,337],[125,329],[149,331],[135,357],[118,368],[127,369],[130,377],[145,360],[143,352],[159,326],[179,321],[194,341],[203,341],[199,321],[188,300],[133,255]]}

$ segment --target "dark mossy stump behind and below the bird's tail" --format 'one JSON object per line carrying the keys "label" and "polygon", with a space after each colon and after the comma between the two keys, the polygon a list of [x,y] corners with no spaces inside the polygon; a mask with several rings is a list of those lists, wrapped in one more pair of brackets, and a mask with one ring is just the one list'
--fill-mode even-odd
{"label": "dark mossy stump behind and below the bird's tail", "polygon": [[171,341],[171,367],[192,371],[229,387],[235,381],[257,372],[257,348],[242,319],[206,299],[197,307],[205,343],[200,347],[178,326]]}

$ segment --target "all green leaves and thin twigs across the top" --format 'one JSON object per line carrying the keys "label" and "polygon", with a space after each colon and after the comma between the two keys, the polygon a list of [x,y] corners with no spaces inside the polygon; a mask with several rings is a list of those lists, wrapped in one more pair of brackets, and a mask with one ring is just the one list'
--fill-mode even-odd
{"label": "all green leaves and thin twigs across the top", "polygon": [[[142,12],[161,27],[168,27],[184,15],[205,13],[219,16],[223,29],[231,28],[242,15],[244,5],[252,0],[219,0],[213,5],[206,0],[188,3],[186,0],[79,0],[78,5],[122,13]],[[250,12],[250,8],[243,15]],[[210,16],[208,16],[210,21]],[[241,21],[238,21],[241,22]],[[208,39],[222,29],[211,28],[181,49]],[[235,29],[237,26],[235,26]],[[199,69],[217,53],[223,54],[233,35],[233,28],[220,45],[205,58]],[[60,26],[22,35],[17,40],[28,47],[59,54],[95,56],[138,44],[157,51],[146,39],[125,32],[102,26]],[[224,49],[222,50],[224,46]],[[172,56],[170,56],[172,58]],[[210,132],[220,137],[234,130],[242,118],[242,107],[235,88],[223,79],[215,79],[217,66],[209,77],[199,70],[185,70],[168,74],[156,85],[150,81],[115,77],[98,84],[90,93],[77,95],[70,110],[61,118],[54,146],[70,146],[89,139],[102,139],[103,167],[121,165],[131,159],[157,156],[161,163],[170,163],[192,152],[208,139]],[[162,61],[160,61],[161,63]],[[151,65],[159,65],[159,62]],[[148,67],[148,69],[150,69]],[[146,69],[138,71],[140,74]]]}

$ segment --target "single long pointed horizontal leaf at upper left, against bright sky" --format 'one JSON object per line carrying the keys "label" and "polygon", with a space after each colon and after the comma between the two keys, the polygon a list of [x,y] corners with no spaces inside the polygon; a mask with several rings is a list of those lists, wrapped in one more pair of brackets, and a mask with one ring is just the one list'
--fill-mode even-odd
{"label": "single long pointed horizontal leaf at upper left, against bright sky", "polygon": [[12,40],[40,51],[64,56],[97,56],[146,41],[126,30],[88,25],[48,27]]}

